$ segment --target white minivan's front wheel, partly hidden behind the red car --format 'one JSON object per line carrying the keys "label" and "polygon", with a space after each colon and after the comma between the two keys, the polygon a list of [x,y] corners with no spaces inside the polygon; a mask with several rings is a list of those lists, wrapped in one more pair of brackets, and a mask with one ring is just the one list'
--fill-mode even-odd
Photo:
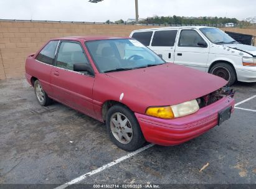
{"label": "white minivan's front wheel, partly hidden behind the red car", "polygon": [[237,80],[237,75],[235,73],[234,68],[228,63],[222,63],[222,62],[216,63],[216,65],[214,65],[211,68],[209,73],[229,81],[229,83],[227,83],[228,86],[233,85]]}

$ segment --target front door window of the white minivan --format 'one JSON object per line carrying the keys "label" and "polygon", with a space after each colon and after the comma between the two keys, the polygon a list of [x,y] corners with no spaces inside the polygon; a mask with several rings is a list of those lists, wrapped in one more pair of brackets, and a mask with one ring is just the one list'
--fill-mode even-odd
{"label": "front door window of the white minivan", "polygon": [[195,30],[182,30],[179,37],[179,47],[201,47],[198,42],[205,42]]}

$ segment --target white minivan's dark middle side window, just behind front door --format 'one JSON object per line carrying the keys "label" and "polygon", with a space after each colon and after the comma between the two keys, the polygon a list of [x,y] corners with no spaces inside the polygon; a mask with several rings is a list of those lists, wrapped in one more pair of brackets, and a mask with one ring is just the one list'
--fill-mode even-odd
{"label": "white minivan's dark middle side window, just behind front door", "polygon": [[173,47],[178,30],[162,30],[154,32],[151,46]]}

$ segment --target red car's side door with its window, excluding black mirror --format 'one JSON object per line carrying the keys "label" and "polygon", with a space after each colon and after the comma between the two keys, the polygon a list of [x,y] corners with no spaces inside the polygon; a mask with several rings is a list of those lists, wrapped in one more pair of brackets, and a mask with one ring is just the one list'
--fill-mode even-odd
{"label": "red car's side door with its window, excluding black mirror", "polygon": [[71,40],[61,41],[55,67],[50,74],[54,98],[94,117],[92,102],[94,76],[87,72],[73,71],[75,63],[85,63],[90,66],[82,44]]}

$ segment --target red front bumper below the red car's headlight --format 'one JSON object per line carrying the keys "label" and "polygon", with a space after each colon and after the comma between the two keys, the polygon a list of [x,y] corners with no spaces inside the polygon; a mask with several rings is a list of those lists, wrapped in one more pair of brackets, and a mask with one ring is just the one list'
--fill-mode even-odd
{"label": "red front bumper below the red car's headlight", "polygon": [[234,98],[222,98],[194,114],[176,119],[159,119],[135,113],[146,141],[159,145],[178,145],[189,141],[218,124],[218,113],[232,106]]}

